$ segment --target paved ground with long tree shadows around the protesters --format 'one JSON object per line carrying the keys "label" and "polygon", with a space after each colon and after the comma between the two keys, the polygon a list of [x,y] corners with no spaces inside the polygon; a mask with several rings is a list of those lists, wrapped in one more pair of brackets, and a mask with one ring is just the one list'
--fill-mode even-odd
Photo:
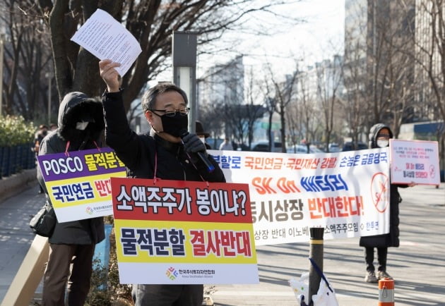
{"label": "paved ground with long tree shadows around the protesters", "polygon": [[[445,186],[401,190],[401,247],[388,251],[398,306],[445,305]],[[33,239],[28,222],[45,201],[37,185],[0,202],[0,301]],[[287,281],[309,270],[309,243],[257,247],[260,283],[215,286],[215,306],[297,305]],[[324,241],[324,272],[339,305],[377,305],[376,284],[364,283],[364,256],[358,238]],[[39,289],[37,289],[39,290]]]}

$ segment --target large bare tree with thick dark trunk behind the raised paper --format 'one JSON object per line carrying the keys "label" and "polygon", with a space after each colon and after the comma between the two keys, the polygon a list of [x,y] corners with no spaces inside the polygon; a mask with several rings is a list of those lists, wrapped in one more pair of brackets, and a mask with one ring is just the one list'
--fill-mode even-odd
{"label": "large bare tree with thick dark trunk behind the raised paper", "polygon": [[218,39],[247,14],[268,11],[283,2],[268,1],[262,5],[247,0],[182,0],[168,4],[160,0],[40,0],[39,6],[51,30],[59,97],[71,90],[96,95],[104,88],[97,59],[69,40],[96,8],[110,13],[136,37],[142,53],[122,78],[124,102],[129,109],[148,80],[170,66],[167,59],[172,51],[172,31],[198,32],[198,44],[206,44]]}

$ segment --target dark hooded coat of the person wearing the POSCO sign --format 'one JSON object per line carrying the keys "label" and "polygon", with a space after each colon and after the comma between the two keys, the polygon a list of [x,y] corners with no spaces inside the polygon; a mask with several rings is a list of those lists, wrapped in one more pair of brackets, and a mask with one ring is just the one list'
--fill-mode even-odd
{"label": "dark hooded coat of the person wearing the POSCO sign", "polygon": [[[77,130],[76,123],[81,119],[94,122],[88,123],[88,127],[83,131]],[[102,104],[97,99],[89,99],[82,92],[70,92],[59,106],[58,123],[59,128],[42,140],[39,155],[65,152],[68,141],[70,142],[68,151],[93,149],[95,148],[93,141],[97,145],[100,144],[100,135],[105,128]],[[37,167],[37,179],[47,194],[40,167]],[[49,201],[48,196],[47,200]],[[103,218],[99,217],[57,223],[49,243],[90,245],[99,243],[104,238],[104,222]]]}

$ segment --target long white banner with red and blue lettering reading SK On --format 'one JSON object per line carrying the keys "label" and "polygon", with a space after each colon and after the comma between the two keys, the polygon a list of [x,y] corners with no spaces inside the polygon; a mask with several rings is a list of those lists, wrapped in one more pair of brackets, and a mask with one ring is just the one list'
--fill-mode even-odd
{"label": "long white banner with red and blue lettering reading SK On", "polygon": [[388,148],[284,154],[209,150],[227,183],[248,183],[256,245],[388,233]]}

